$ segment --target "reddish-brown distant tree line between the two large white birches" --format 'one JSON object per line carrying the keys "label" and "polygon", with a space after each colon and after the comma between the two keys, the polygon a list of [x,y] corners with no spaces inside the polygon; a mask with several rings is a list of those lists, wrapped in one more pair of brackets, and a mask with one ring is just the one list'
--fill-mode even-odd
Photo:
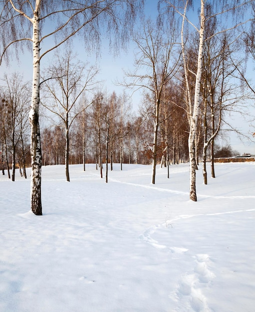
{"label": "reddish-brown distant tree line between the two large white birches", "polygon": [[[165,97],[164,108],[160,111],[164,122],[160,127],[157,144],[157,163],[162,162],[164,166],[167,161],[188,161],[189,126],[186,112],[181,106],[175,107],[170,99],[172,95],[169,88],[168,98]],[[143,108],[140,113],[133,112],[129,101],[125,93],[118,96],[115,92],[107,95],[100,91],[94,95],[91,103],[83,103],[87,108],[76,117],[69,133],[69,163],[93,162],[100,168],[106,161],[107,152],[111,168],[114,162],[120,163],[120,166],[122,163],[152,163],[152,107],[147,106],[146,111]],[[173,113],[170,115],[171,111]],[[63,126],[52,125],[42,131],[42,151],[43,164],[65,162]]]}

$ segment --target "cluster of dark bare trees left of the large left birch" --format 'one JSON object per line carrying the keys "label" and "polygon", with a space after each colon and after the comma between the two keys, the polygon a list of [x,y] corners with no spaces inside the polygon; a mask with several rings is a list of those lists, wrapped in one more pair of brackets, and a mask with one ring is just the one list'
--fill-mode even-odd
{"label": "cluster of dark bare trees left of the large left birch", "polygon": [[[4,76],[0,88],[0,169],[15,180],[15,168],[26,176],[26,166],[31,165],[29,148],[29,101],[30,91],[21,75]],[[11,174],[10,174],[11,171]]]}

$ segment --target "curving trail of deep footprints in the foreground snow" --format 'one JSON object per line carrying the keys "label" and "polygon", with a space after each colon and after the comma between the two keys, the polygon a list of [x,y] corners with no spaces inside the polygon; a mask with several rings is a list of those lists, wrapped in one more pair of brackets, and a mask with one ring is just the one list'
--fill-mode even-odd
{"label": "curving trail of deep footprints in the foreground snow", "polygon": [[[255,211],[255,209],[235,210],[219,213],[205,213],[205,214],[193,214],[193,215],[179,215],[176,218],[166,220],[165,223],[153,225],[149,229],[145,230],[143,234],[139,236],[140,240],[150,244],[152,247],[165,250],[171,254],[179,254],[179,257],[183,258],[186,252],[187,257],[190,257],[190,263],[193,263],[193,268],[189,271],[184,271],[180,275],[176,287],[173,292],[169,295],[177,307],[175,312],[182,311],[197,311],[197,312],[211,312],[212,310],[208,306],[207,297],[205,290],[211,287],[213,279],[216,277],[215,274],[210,270],[212,264],[211,257],[209,254],[192,254],[192,251],[180,246],[167,246],[161,244],[156,239],[152,238],[153,234],[166,225],[173,224],[174,221],[186,218],[193,218],[198,216],[215,216],[224,214],[235,214],[248,211]],[[180,258],[180,259],[181,259]],[[189,307],[189,308],[188,308]],[[190,310],[188,310],[190,309]]]}

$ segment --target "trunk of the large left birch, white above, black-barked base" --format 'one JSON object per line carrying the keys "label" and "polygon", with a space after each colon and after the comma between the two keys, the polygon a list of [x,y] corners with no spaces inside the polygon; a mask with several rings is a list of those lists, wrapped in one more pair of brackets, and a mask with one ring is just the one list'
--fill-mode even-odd
{"label": "trunk of the large left birch, white above, black-barked base", "polygon": [[36,9],[33,16],[33,80],[32,100],[29,112],[31,125],[31,210],[36,215],[42,215],[41,207],[41,143],[39,129],[39,88],[40,88],[40,36],[39,36],[39,5],[36,0]]}

